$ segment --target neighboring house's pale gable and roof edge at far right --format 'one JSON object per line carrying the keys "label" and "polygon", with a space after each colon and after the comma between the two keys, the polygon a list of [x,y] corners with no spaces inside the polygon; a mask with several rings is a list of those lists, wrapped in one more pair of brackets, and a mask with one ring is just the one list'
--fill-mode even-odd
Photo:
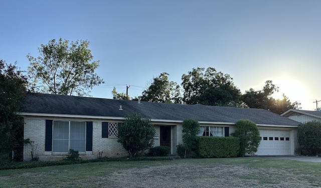
{"label": "neighboring house's pale gable and roof edge at far right", "polygon": [[321,111],[289,109],[281,115],[302,123],[313,120],[321,121]]}

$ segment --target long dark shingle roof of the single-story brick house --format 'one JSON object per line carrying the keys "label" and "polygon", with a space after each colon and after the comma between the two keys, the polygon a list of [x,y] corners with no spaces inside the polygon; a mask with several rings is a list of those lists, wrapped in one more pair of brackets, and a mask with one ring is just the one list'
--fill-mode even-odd
{"label": "long dark shingle roof of the single-story brick house", "polygon": [[[123,110],[119,110],[122,105]],[[29,94],[21,112],[75,114],[124,117],[138,112],[152,119],[184,120],[235,123],[239,119],[250,119],[257,124],[297,125],[298,122],[270,111],[258,108],[207,106],[202,104],[171,104],[133,100],[114,100],[82,96]]]}

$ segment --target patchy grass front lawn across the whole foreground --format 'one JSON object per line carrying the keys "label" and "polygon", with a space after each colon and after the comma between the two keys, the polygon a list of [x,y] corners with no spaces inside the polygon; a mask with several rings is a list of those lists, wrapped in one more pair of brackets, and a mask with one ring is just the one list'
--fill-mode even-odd
{"label": "patchy grass front lawn across the whole foreground", "polygon": [[270,157],[110,161],[0,170],[0,187],[321,187],[321,163]]}

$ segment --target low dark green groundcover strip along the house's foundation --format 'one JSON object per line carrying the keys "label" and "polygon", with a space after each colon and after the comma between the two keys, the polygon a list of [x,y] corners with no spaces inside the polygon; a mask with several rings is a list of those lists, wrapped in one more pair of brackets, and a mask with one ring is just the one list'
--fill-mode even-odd
{"label": "low dark green groundcover strip along the house's foundation", "polygon": [[107,161],[138,161],[138,160],[173,160],[170,156],[137,156],[137,157],[119,157],[119,158],[96,158],[88,160],[59,160],[59,161],[29,161],[29,162],[10,162],[0,164],[0,170],[2,169],[19,169],[19,168],[34,168],[41,166],[55,166],[66,164],[81,164],[90,162],[107,162]]}

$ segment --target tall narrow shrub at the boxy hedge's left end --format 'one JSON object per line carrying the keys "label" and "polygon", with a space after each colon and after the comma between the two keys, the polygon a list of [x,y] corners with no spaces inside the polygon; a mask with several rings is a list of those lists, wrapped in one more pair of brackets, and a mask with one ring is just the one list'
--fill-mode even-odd
{"label": "tall narrow shrub at the boxy hedge's left end", "polygon": [[186,158],[187,151],[197,148],[197,135],[200,132],[200,123],[195,119],[184,119],[182,127],[183,142],[185,146],[184,157]]}

